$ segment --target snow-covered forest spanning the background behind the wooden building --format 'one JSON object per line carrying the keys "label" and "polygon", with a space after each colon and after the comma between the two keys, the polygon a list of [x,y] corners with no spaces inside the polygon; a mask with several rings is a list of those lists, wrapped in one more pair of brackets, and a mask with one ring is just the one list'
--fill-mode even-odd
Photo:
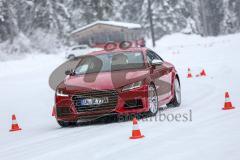
{"label": "snow-covered forest spanning the background behind the wooden building", "polygon": [[[240,0],[151,0],[156,39],[174,32],[217,36],[240,31]],[[150,35],[147,0],[0,0],[0,42],[69,33],[96,20],[139,23]],[[204,13],[204,14],[203,14]],[[40,38],[43,39],[43,38]]]}

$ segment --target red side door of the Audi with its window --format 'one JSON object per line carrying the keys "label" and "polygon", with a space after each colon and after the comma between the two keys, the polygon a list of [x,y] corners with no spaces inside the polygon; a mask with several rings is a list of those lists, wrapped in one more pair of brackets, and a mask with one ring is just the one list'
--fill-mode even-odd
{"label": "red side door of the Audi with its window", "polygon": [[[161,65],[152,66],[151,62],[161,60]],[[150,76],[155,83],[159,101],[165,100],[171,96],[171,68],[164,63],[163,59],[155,52],[147,51],[147,60],[150,66]]]}

